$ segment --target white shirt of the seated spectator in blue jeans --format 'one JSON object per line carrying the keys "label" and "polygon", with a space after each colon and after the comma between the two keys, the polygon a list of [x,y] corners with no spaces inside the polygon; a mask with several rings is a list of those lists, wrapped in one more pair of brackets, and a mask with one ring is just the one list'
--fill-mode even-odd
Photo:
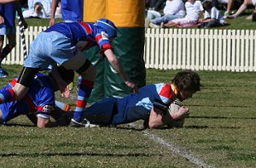
{"label": "white shirt of the seated spectator in blue jeans", "polygon": [[182,0],[167,0],[164,8],[165,15],[185,16],[185,8]]}

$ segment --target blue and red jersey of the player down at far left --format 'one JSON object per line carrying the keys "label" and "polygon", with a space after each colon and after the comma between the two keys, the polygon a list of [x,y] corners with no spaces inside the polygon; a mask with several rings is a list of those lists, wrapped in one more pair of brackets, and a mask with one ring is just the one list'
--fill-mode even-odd
{"label": "blue and red jersey of the player down at far left", "polygon": [[[17,78],[2,89],[12,88],[15,86]],[[1,89],[1,90],[2,90]],[[55,107],[55,90],[49,76],[38,73],[32,81],[32,87],[24,98],[20,101],[0,104],[3,113],[3,121],[8,121],[18,115],[27,115],[36,113],[40,117],[49,118],[52,108]]]}

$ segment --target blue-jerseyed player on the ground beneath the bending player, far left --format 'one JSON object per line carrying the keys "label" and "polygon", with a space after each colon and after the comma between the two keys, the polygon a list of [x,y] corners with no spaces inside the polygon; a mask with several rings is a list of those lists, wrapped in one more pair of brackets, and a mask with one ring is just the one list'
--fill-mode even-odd
{"label": "blue-jerseyed player on the ground beneath the bending player, far left", "polygon": [[[58,67],[61,78],[68,83],[73,81],[73,70],[66,70],[62,66]],[[9,85],[0,89],[0,91],[9,90],[15,86],[17,78],[9,83]],[[49,73],[45,76],[38,73],[32,81],[32,87],[26,96],[20,101],[0,104],[0,123],[6,124],[7,121],[14,119],[19,115],[27,115],[35,126],[39,128],[51,126],[66,126],[66,120],[61,118],[63,109],[67,110],[67,106],[61,110],[55,107],[55,91],[60,90],[56,84],[55,78]],[[3,95],[0,94],[0,97]],[[50,121],[52,116],[55,121]]]}

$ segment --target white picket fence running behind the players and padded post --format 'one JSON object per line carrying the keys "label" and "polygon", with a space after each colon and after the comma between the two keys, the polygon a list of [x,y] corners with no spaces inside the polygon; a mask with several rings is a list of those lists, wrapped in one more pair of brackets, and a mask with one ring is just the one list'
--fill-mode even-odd
{"label": "white picket fence running behind the players and padded post", "polygon": [[[25,31],[26,48],[44,26]],[[17,30],[18,27],[17,27]],[[17,31],[17,46],[3,64],[23,64],[24,54]],[[256,31],[208,29],[146,29],[146,68],[161,70],[256,71]]]}

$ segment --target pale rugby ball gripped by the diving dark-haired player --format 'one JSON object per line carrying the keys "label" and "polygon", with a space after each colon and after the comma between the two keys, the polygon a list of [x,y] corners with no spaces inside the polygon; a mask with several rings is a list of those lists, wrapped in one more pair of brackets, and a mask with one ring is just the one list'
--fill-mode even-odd
{"label": "pale rugby ball gripped by the diving dark-haired player", "polygon": [[[172,104],[169,106],[168,112],[170,115],[177,113],[178,109],[181,108],[181,104],[177,102],[176,100],[172,102]],[[168,124],[168,127],[183,127],[185,118],[179,119],[179,120],[174,120],[172,123]]]}

